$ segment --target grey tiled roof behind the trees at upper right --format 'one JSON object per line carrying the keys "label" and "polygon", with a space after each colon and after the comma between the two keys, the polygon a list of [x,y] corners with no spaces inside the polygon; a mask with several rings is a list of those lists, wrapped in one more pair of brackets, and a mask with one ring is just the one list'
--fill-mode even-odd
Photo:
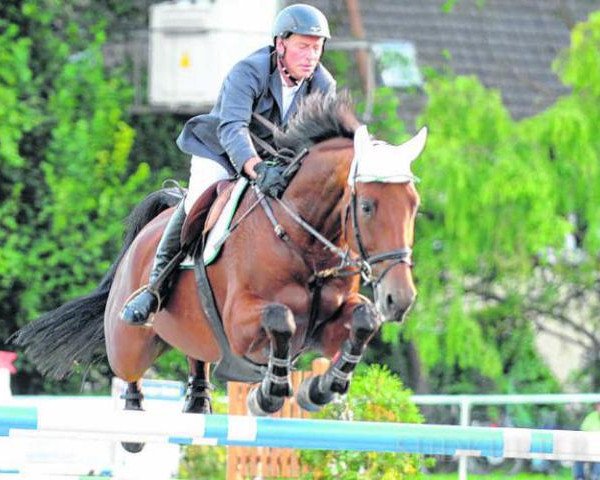
{"label": "grey tiled roof behind the trees at upper right", "polygon": [[[289,2],[288,2],[289,3]],[[329,18],[333,38],[350,38],[346,2],[307,1]],[[552,61],[569,46],[570,29],[600,0],[457,0],[444,12],[443,0],[361,0],[367,40],[412,42],[421,67],[477,75],[501,91],[515,119],[544,110],[568,91]],[[423,99],[406,98],[416,113]]]}

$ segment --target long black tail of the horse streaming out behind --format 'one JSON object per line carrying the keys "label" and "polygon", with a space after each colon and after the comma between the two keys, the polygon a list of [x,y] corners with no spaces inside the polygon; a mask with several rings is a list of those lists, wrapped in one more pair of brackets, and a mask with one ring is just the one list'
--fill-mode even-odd
{"label": "long black tail of the horse streaming out behind", "polygon": [[60,379],[76,364],[87,366],[106,356],[104,309],[119,262],[140,230],[179,200],[181,194],[175,189],[148,195],[129,215],[123,248],[96,290],[45,313],[12,335],[9,341],[24,347],[40,372]]}

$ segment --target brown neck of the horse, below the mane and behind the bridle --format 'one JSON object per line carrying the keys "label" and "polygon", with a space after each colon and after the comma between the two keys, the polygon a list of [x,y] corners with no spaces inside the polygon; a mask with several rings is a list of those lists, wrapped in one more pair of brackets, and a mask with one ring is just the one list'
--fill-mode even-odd
{"label": "brown neck of the horse, below the mane and behind the bridle", "polygon": [[352,141],[332,139],[311,148],[286,191],[302,218],[332,242],[342,240]]}

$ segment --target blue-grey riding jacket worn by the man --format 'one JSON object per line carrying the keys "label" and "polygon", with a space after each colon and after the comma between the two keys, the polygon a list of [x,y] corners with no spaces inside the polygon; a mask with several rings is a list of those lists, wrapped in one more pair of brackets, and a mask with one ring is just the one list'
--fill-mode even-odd
{"label": "blue-grey riding jacket worn by the man", "polygon": [[241,172],[246,160],[260,155],[249,130],[269,144],[268,128],[252,118],[257,112],[276,125],[285,126],[296,112],[298,101],[315,90],[334,91],[335,80],[319,64],[309,81],[302,83],[285,118],[281,118],[281,76],[275,66],[273,47],[257,50],[229,72],[210,113],[187,121],[177,138],[177,146],[190,155],[211,158],[233,173]]}

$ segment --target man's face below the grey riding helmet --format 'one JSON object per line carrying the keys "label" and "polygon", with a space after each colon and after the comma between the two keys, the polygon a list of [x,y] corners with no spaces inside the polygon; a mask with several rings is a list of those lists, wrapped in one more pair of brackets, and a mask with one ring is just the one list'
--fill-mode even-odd
{"label": "man's face below the grey riding helmet", "polygon": [[277,41],[278,50],[285,51],[283,64],[290,75],[297,79],[310,77],[321,59],[324,39],[312,35],[292,35],[285,40],[278,38]]}

